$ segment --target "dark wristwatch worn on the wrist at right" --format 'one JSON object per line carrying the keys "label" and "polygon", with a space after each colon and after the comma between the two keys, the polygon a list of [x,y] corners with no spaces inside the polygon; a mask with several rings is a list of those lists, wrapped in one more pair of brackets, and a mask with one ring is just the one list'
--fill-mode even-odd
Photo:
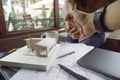
{"label": "dark wristwatch worn on the wrist at right", "polygon": [[94,18],[93,18],[93,23],[95,26],[95,29],[98,33],[104,33],[106,31],[110,31],[103,22],[104,14],[106,11],[106,7],[104,6],[102,8],[99,8],[98,10],[95,11]]}

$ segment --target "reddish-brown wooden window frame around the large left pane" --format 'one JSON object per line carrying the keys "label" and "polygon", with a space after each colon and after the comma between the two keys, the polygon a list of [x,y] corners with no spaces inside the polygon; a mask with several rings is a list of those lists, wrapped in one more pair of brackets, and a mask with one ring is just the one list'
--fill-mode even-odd
{"label": "reddish-brown wooden window frame around the large left pane", "polygon": [[0,0],[0,12],[1,12],[0,13],[0,39],[60,29],[60,26],[59,26],[59,0],[53,0],[53,1],[54,1],[53,2],[53,5],[54,5],[54,27],[53,28],[8,32],[6,29],[6,24],[5,24],[2,0]]}

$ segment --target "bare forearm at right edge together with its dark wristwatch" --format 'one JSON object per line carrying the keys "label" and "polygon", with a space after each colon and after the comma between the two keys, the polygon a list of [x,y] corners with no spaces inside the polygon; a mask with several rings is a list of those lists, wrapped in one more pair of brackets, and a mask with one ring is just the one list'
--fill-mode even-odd
{"label": "bare forearm at right edge together with its dark wristwatch", "polygon": [[93,24],[98,33],[119,29],[120,26],[120,0],[108,6],[99,8],[94,12]]}

